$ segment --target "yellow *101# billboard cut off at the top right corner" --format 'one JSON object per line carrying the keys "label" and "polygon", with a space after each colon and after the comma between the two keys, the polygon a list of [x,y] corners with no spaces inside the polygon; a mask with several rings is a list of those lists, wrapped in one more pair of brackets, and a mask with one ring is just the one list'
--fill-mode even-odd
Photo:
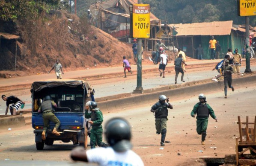
{"label": "yellow *101# billboard cut off at the top right corner", "polygon": [[256,15],[256,0],[238,0],[238,15]]}

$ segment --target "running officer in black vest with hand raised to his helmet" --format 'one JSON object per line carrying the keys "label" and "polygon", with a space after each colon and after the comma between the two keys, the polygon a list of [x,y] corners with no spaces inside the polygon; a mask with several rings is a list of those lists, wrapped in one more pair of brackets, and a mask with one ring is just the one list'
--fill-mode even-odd
{"label": "running officer in black vest with hand raised to his helmet", "polygon": [[[166,121],[168,120],[168,109],[173,109],[173,106],[169,102],[169,97],[167,98],[164,95],[159,96],[159,101],[155,103],[151,107],[151,112],[155,114],[155,128],[156,128],[156,134],[161,133],[161,146],[164,146],[164,140],[167,133],[167,125]],[[166,101],[166,102],[165,102]],[[170,141],[165,141],[165,143],[170,143]]]}

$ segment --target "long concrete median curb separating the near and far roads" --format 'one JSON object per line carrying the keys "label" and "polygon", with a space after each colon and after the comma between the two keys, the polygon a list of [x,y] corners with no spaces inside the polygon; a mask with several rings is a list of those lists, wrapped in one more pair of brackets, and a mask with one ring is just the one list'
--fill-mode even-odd
{"label": "long concrete median curb separating the near and far roads", "polygon": [[[207,83],[193,85],[193,84],[196,84],[197,82],[207,82]],[[236,88],[239,86],[243,86],[244,84],[249,84],[254,82],[256,82],[256,76],[246,76],[242,78],[233,79],[232,84]],[[96,101],[98,102],[98,107],[104,113],[104,112],[115,111],[117,109],[138,106],[141,103],[153,105],[156,101],[158,101],[158,96],[162,94],[170,97],[175,96],[176,98],[189,96],[189,95],[197,96],[199,93],[222,90],[223,87],[224,87],[223,81],[212,82],[211,79],[206,79],[206,80],[199,80],[195,82],[187,82],[185,84],[167,85],[164,87],[153,88],[153,89],[145,90],[143,94],[124,93],[124,94],[119,94],[115,96],[96,98]],[[26,114],[26,112],[30,112],[30,111],[26,110],[22,113]],[[7,117],[6,115],[0,116],[0,128],[6,128],[6,127],[9,128],[14,125],[24,126],[25,125],[24,116],[20,116],[20,115],[16,115],[16,116],[9,115]]]}

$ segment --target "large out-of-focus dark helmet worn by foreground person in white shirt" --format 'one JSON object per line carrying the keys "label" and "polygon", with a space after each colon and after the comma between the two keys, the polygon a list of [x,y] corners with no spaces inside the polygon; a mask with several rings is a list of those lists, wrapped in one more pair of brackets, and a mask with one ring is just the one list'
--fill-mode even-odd
{"label": "large out-of-focus dark helmet worn by foreground person in white shirt", "polygon": [[107,142],[115,151],[131,149],[131,126],[127,120],[112,118],[107,121],[104,131]]}

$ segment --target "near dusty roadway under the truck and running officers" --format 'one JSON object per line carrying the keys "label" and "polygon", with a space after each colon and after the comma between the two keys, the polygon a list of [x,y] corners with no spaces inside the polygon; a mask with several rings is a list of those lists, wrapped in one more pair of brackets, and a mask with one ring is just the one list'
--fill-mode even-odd
{"label": "near dusty roadway under the truck and running officers", "polygon": [[[237,116],[241,116],[243,122],[246,116],[249,116],[249,122],[254,121],[255,93],[253,85],[237,88],[235,92],[229,90],[228,99],[223,99],[222,91],[205,92],[207,102],[218,118],[218,122],[209,118],[205,146],[200,145],[200,135],[196,134],[196,119],[190,116],[193,105],[198,102],[197,96],[193,95],[171,99],[173,110],[169,110],[166,137],[166,140],[170,140],[171,143],[166,144],[164,149],[160,149],[161,135],[155,134],[155,121],[153,114],[149,111],[151,107],[149,103],[140,103],[143,105],[138,105],[136,108],[120,108],[105,113],[103,126],[111,117],[122,116],[128,119],[132,126],[133,150],[140,155],[145,166],[196,165],[194,163],[181,165],[181,163],[189,158],[195,162],[199,157],[224,157],[225,154],[235,154],[235,137],[239,137]],[[22,128],[15,127],[11,131],[7,128],[0,130],[0,138],[0,160],[70,162],[70,151],[75,147],[72,142],[55,141],[53,146],[45,146],[43,151],[37,151],[30,125]],[[199,152],[200,150],[203,152]],[[178,156],[178,152],[181,155]]]}

